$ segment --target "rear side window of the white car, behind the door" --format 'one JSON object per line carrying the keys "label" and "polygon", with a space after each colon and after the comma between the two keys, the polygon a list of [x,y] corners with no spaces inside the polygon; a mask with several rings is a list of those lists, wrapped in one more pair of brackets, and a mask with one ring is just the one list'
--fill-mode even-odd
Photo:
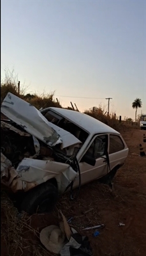
{"label": "rear side window of the white car, behind the door", "polygon": [[124,143],[122,142],[120,136],[110,135],[110,154],[118,152],[124,149]]}

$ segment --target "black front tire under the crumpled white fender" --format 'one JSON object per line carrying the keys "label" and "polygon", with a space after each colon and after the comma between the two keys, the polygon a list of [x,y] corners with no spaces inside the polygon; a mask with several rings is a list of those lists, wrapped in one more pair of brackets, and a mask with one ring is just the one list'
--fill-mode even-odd
{"label": "black front tire under the crumpled white fender", "polygon": [[20,204],[20,211],[29,214],[50,212],[58,199],[58,189],[50,182],[44,182],[27,192]]}

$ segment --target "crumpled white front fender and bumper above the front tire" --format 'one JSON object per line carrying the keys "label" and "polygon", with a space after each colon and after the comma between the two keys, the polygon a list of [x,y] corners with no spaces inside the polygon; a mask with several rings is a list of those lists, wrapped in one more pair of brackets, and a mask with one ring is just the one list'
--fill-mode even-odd
{"label": "crumpled white front fender and bumper above the front tire", "polygon": [[[3,180],[3,177],[9,180]],[[51,160],[38,160],[24,158],[18,164],[17,170],[13,168],[11,161],[1,153],[1,182],[10,186],[13,192],[28,191],[39,184],[55,177],[59,193],[63,193],[78,173],[69,164],[57,163]],[[17,177],[17,179],[16,179]]]}

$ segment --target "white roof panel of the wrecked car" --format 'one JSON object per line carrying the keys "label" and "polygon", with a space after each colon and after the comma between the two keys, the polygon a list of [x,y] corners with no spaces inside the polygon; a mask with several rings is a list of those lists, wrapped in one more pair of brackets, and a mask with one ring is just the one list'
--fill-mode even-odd
{"label": "white roof panel of the wrecked car", "polygon": [[51,109],[55,113],[58,113],[59,115],[68,119],[74,124],[77,124],[79,127],[84,129],[85,131],[88,131],[91,134],[98,134],[98,133],[105,133],[105,132],[120,134],[119,132],[112,129],[110,126],[84,113],[80,113],[78,111],[73,111],[73,110],[64,109],[64,108],[48,108],[48,109]]}

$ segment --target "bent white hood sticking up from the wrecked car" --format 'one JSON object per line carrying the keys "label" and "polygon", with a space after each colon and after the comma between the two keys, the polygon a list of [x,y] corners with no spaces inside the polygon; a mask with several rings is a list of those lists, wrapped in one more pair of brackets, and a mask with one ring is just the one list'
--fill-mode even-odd
{"label": "bent white hood sticking up from the wrecked car", "polygon": [[61,144],[61,148],[66,148],[82,143],[70,132],[48,122],[38,109],[10,92],[2,102],[1,113],[50,147]]}

